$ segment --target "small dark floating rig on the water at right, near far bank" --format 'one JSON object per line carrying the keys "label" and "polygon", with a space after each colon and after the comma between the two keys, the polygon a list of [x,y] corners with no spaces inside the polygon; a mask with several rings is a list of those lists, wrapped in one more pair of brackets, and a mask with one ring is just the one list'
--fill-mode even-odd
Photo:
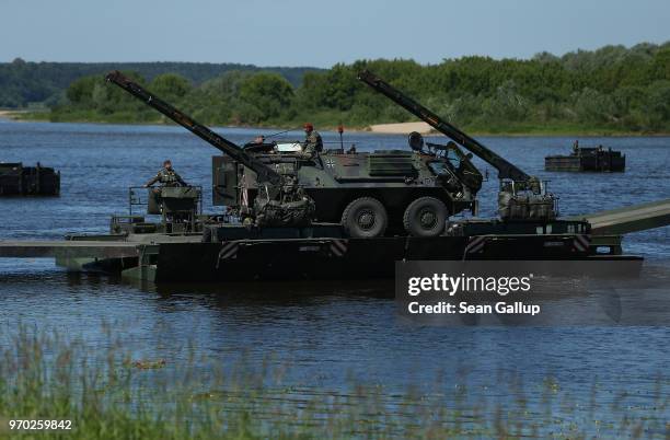
{"label": "small dark floating rig on the water at right, near far bank", "polygon": [[547,155],[544,158],[546,171],[616,173],[626,170],[626,157],[621,151],[607,150],[602,146],[579,147],[573,144],[570,155]]}

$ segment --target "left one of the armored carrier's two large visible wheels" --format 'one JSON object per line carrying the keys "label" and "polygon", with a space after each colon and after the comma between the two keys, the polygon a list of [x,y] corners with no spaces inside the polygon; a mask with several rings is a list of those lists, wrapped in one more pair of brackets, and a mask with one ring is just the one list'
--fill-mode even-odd
{"label": "left one of the armored carrier's two large visible wheels", "polygon": [[345,232],[358,239],[383,235],[388,223],[389,216],[384,206],[372,197],[357,198],[347,205],[342,213]]}

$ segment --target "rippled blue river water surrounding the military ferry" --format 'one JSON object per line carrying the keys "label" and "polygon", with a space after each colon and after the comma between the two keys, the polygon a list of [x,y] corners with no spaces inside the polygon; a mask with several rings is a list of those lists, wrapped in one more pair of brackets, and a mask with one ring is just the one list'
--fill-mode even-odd
{"label": "rippled blue river water surrounding the military ferry", "polygon": [[[269,134],[220,130],[235,142]],[[326,142],[338,142],[337,134],[322,135]],[[543,158],[568,153],[571,138],[482,140],[529,174],[551,181],[563,215],[670,197],[670,138],[580,140],[584,146],[602,143],[623,151],[623,174],[544,172]],[[350,143],[359,151],[407,148],[404,136],[345,134],[345,147]],[[177,127],[0,119],[0,161],[39,161],[62,176],[59,198],[0,199],[0,239],[104,233],[111,215],[126,212],[127,187],[145,183],[166,158],[188,183],[203,185],[206,211],[220,209],[210,201],[213,153]],[[496,204],[495,171],[489,167],[489,173],[480,197],[484,216],[492,216]],[[631,234],[625,251],[667,270],[670,228]],[[455,372],[465,371],[469,383],[495,390],[495,372],[512,371],[531,384],[551,374],[575,393],[598,378],[607,390],[624,390],[644,402],[659,377],[668,383],[668,327],[417,327],[396,320],[393,300],[381,298],[386,289],[392,286],[377,281],[155,288],[67,274],[48,259],[4,259],[0,320],[9,327],[21,322],[59,328],[92,344],[107,340],[100,329],[104,321],[112,323],[126,347],[148,358],[178,361],[190,343],[221,359],[244,352],[251,362],[261,362],[274,354],[276,362],[291,364],[296,381],[313,389],[344,387],[351,378],[390,389],[429,389],[439,373],[457,381]],[[448,380],[446,386],[451,385]]]}

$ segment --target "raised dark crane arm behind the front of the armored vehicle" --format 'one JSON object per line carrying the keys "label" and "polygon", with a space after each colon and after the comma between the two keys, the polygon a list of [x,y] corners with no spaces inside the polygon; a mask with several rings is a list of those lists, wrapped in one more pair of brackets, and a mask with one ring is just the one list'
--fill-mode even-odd
{"label": "raised dark crane arm behind the front of the armored vehicle", "polygon": [[409,96],[406,96],[403,92],[395,89],[384,80],[378,78],[372,72],[363,70],[358,73],[358,79],[374,89],[377,92],[389,97],[391,101],[405,108],[414,116],[426,121],[436,130],[444,134],[453,141],[465,147],[467,150],[476,154],[485,162],[489,163],[493,167],[498,170],[498,178],[510,178],[519,183],[531,181],[532,177],[525,174],[523,171],[519,170],[513,164],[509,163],[495,152],[490,151],[477,140],[465,135],[463,131],[459,130],[453,125],[443,120],[438,115],[430,112],[428,108],[424,107],[421,104],[417,103]]}

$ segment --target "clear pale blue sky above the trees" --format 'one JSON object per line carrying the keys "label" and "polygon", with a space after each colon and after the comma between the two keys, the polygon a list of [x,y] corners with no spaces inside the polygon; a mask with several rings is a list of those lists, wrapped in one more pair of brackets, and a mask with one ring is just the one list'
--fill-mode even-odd
{"label": "clear pale blue sky above the trees", "polygon": [[330,67],[670,39],[670,0],[0,0],[0,61]]}

